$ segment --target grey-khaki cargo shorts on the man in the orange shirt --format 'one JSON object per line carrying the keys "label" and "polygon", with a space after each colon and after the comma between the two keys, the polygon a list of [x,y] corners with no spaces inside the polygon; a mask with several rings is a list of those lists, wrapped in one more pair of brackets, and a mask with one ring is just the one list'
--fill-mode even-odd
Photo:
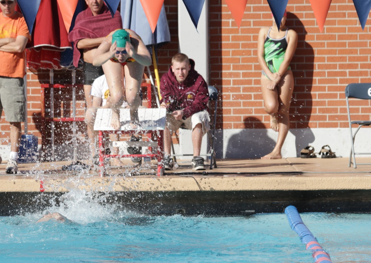
{"label": "grey-khaki cargo shorts on the man in the orange shirt", "polygon": [[23,78],[0,77],[0,116],[5,111],[8,122],[25,121],[25,102]]}

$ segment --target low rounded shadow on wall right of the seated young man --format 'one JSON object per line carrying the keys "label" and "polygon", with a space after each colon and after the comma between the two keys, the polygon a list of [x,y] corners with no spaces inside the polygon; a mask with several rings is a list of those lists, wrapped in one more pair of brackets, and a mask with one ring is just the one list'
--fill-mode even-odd
{"label": "low rounded shadow on wall right of the seated young man", "polygon": [[276,142],[267,135],[267,129],[259,119],[246,117],[244,126],[246,129],[225,138],[224,158],[256,159],[269,154],[275,147]]}

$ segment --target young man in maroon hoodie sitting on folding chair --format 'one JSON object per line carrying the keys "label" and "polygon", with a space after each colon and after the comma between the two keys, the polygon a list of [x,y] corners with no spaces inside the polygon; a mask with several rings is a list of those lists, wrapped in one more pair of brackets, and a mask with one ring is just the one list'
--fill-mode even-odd
{"label": "young man in maroon hoodie sitting on folding chair", "polygon": [[204,78],[194,70],[194,61],[182,53],[174,55],[169,71],[161,77],[160,92],[161,107],[168,112],[164,131],[165,170],[174,166],[170,157],[171,135],[183,124],[192,131],[192,168],[205,170],[200,151],[202,137],[210,128],[209,91]]}

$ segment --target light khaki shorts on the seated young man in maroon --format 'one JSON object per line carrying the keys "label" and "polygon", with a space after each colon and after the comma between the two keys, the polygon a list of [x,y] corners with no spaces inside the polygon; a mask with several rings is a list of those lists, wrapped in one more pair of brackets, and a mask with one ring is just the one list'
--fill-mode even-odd
{"label": "light khaki shorts on the seated young man in maroon", "polygon": [[171,134],[177,131],[184,124],[184,128],[193,131],[197,124],[202,124],[202,134],[205,135],[210,129],[210,115],[207,110],[199,111],[185,120],[178,121],[172,114],[166,115],[166,126]]}

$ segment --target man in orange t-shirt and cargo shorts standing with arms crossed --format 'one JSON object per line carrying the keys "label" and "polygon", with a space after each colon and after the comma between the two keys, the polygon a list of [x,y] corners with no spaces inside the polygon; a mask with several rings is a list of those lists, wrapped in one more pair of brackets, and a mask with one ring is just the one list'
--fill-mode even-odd
{"label": "man in orange t-shirt and cargo shorts standing with arms crossed", "polygon": [[26,22],[15,10],[16,1],[0,1],[0,116],[10,123],[10,158],[8,174],[18,171],[18,150],[21,122],[25,121],[25,94],[23,77],[26,74],[26,47],[31,40]]}

